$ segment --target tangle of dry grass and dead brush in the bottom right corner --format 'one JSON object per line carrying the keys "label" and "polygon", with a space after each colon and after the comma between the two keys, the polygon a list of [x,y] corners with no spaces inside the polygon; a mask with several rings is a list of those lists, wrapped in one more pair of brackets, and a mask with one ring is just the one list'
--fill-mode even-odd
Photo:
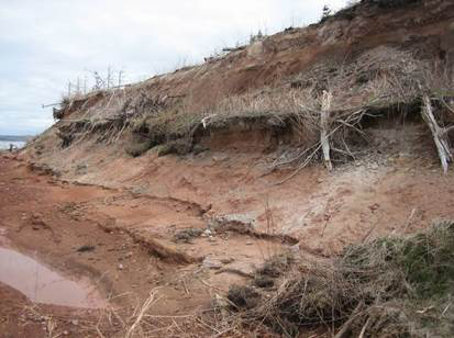
{"label": "tangle of dry grass and dead brush in the bottom right corner", "polygon": [[341,336],[452,337],[453,291],[454,223],[439,222],[348,247],[331,263],[304,263],[241,317],[290,337],[320,326]]}

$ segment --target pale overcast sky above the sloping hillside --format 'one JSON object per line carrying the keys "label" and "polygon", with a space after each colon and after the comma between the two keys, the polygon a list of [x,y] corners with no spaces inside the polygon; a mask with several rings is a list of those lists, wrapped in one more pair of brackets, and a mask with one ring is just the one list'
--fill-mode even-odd
{"label": "pale overcast sky above the sloping hillside", "polygon": [[68,81],[124,70],[137,81],[199,63],[258,30],[320,19],[345,0],[0,0],[0,134],[36,134]]}

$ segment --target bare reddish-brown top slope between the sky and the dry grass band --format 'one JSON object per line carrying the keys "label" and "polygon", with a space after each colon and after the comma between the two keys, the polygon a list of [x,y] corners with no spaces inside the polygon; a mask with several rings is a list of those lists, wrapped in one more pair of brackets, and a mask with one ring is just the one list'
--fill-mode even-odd
{"label": "bare reddish-brown top slope between the sky and the dry grass band", "polygon": [[[200,110],[226,97],[286,87],[301,72],[348,64],[378,46],[411,50],[417,58],[443,60],[454,50],[453,12],[452,1],[363,1],[323,23],[288,29],[129,90],[135,91],[134,95],[145,91],[153,98],[170,98],[174,103]],[[109,94],[106,95],[108,100]]]}

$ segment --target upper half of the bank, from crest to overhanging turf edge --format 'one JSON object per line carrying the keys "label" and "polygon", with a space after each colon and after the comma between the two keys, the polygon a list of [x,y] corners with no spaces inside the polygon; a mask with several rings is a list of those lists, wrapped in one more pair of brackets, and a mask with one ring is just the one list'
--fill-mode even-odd
{"label": "upper half of the bank, from crest to overhanging turf edge", "polygon": [[[59,122],[43,136],[53,150],[93,137],[122,140],[133,156],[168,143],[167,151],[186,154],[207,137],[235,131],[301,146],[317,132],[307,116],[317,119],[312,112],[320,111],[323,91],[332,95],[332,112],[411,108],[421,86],[449,97],[444,76],[453,53],[452,1],[363,0],[321,23],[257,38],[199,66],[67,98],[55,112]],[[48,148],[40,147],[41,155]]]}

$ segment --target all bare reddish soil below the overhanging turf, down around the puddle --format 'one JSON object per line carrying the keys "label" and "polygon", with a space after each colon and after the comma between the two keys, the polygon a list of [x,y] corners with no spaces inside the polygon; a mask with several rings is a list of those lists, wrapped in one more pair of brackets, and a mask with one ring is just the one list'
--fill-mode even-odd
{"label": "all bare reddish soil below the overhanging turf, down around the puddle", "polygon": [[[399,136],[376,133],[384,143],[376,153],[333,172],[318,165],[306,168],[283,184],[276,182],[295,169],[269,172],[273,158],[263,154],[158,158],[150,151],[131,159],[91,145],[90,151],[58,155],[51,165],[63,172],[59,179],[29,165],[26,150],[21,157],[3,155],[2,244],[37,256],[68,278],[90,278],[123,318],[152,290],[158,300],[151,314],[195,314],[290,247],[302,258],[332,257],[348,244],[453,218],[453,173],[442,174],[424,126],[409,125]],[[392,145],[385,142],[389,136]],[[76,172],[79,164],[86,172]],[[175,240],[182,229],[204,232],[217,216],[232,214],[255,219],[253,232],[225,229]],[[78,252],[81,246],[95,250]],[[97,336],[96,324],[89,324],[99,317],[104,319],[98,329],[107,337],[121,337],[131,324],[106,322],[106,311],[36,306],[7,286],[0,290],[2,337],[33,337],[30,330],[48,325],[30,319],[30,308],[51,315],[54,333],[74,337]],[[71,326],[68,318],[87,325]]]}

